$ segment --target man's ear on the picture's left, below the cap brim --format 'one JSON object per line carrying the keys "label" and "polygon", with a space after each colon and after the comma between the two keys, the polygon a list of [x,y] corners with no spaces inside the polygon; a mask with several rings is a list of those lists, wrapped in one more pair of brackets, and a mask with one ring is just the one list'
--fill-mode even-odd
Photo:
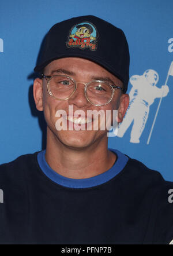
{"label": "man's ear on the picture's left, below the cap brim", "polygon": [[36,78],[33,82],[33,98],[37,110],[43,111],[43,81],[40,78]]}

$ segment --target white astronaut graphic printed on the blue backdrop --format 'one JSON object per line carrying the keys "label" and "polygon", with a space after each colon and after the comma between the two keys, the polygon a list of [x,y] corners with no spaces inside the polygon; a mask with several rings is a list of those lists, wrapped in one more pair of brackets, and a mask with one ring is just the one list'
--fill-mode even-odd
{"label": "white astronaut graphic printed on the blue backdrop", "polygon": [[139,143],[142,131],[148,119],[149,107],[155,98],[166,97],[169,92],[167,85],[157,87],[159,75],[155,70],[146,70],[143,75],[133,75],[130,83],[130,103],[123,122],[119,124],[118,137],[123,137],[126,130],[133,122],[130,142]]}

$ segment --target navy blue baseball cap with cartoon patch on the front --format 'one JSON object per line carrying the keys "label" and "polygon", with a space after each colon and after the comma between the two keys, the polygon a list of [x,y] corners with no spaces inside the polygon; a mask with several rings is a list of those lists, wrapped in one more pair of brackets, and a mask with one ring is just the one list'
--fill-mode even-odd
{"label": "navy blue baseball cap with cartoon patch on the front", "polygon": [[129,82],[129,46],[120,28],[95,16],[80,16],[55,24],[48,31],[35,72],[42,72],[51,61],[81,57],[106,68],[123,82]]}

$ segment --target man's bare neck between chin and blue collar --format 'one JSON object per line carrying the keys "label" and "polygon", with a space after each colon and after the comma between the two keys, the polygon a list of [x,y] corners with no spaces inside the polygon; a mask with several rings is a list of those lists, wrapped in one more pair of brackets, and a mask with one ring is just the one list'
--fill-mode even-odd
{"label": "man's bare neck between chin and blue collar", "polygon": [[107,141],[99,141],[87,148],[67,147],[47,139],[46,162],[52,170],[67,178],[90,178],[109,170],[116,155],[107,148]]}

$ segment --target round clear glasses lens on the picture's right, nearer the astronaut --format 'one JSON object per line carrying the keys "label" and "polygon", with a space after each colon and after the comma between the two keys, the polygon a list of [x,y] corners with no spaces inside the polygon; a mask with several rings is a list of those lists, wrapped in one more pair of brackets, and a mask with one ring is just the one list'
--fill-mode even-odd
{"label": "round clear glasses lens on the picture's right, nearer the astronaut", "polygon": [[103,82],[92,82],[86,88],[86,97],[92,104],[104,105],[112,97],[111,86]]}

